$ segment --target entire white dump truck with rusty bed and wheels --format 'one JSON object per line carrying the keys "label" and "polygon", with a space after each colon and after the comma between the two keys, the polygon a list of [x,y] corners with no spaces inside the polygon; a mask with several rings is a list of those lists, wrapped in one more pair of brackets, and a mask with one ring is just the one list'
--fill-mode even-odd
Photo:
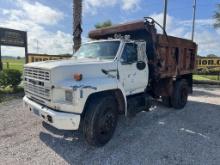
{"label": "entire white dump truck with rusty bed and wheels", "polygon": [[154,100],[182,109],[193,91],[196,43],[168,36],[151,18],[89,33],[68,60],[24,66],[24,106],[61,130],[103,146],[118,115],[149,111]]}

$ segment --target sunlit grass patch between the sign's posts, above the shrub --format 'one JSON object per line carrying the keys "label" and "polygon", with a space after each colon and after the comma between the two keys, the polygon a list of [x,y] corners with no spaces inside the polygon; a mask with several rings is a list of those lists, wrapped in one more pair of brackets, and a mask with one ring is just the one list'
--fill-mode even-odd
{"label": "sunlit grass patch between the sign's posts, above the shrub", "polygon": [[3,69],[7,69],[7,63],[8,63],[8,69],[16,69],[21,72],[23,72],[23,67],[25,60],[24,59],[3,59]]}

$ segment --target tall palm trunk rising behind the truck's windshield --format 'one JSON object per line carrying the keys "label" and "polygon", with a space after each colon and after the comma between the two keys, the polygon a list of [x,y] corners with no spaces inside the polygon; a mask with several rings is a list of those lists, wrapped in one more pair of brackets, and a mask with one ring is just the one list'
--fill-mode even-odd
{"label": "tall palm trunk rising behind the truck's windshield", "polygon": [[81,46],[82,33],[82,0],[73,0],[73,49],[77,51]]}

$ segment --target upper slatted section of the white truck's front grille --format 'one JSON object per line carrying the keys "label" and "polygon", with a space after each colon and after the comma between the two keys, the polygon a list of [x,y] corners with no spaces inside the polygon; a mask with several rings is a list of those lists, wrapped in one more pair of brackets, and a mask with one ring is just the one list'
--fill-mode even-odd
{"label": "upper slatted section of the white truck's front grille", "polygon": [[34,78],[41,81],[50,81],[50,72],[39,68],[24,68],[25,78]]}

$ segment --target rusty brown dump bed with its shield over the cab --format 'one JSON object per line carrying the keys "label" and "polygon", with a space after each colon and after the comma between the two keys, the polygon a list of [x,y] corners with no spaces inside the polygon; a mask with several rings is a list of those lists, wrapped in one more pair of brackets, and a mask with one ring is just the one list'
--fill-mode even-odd
{"label": "rusty brown dump bed with its shield over the cab", "polygon": [[192,74],[195,69],[197,45],[186,39],[158,34],[153,23],[136,21],[89,33],[91,39],[107,39],[115,34],[130,35],[134,40],[145,40],[149,59],[150,78],[178,78]]}

